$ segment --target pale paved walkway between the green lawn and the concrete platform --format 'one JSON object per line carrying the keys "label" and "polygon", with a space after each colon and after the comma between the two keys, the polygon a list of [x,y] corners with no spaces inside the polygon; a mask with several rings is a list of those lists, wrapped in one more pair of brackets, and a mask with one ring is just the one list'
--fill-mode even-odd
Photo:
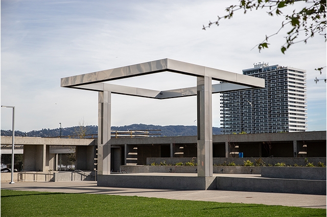
{"label": "pale paved walkway between the green lawn and the concrete platform", "polygon": [[252,203],[326,209],[325,195],[299,195],[225,190],[162,190],[113,188],[98,187],[97,182],[95,181],[15,182],[15,184],[1,182],[1,189],[139,196],[174,200],[214,201],[247,204]]}

